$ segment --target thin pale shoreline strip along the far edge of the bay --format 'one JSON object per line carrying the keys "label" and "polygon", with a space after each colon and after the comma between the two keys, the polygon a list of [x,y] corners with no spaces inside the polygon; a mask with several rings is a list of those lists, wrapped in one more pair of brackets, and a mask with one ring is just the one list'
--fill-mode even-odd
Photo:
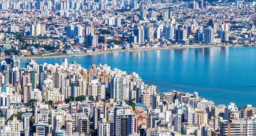
{"label": "thin pale shoreline strip along the far edge of the bay", "polygon": [[[97,52],[82,52],[74,54],[58,54],[54,53],[51,55],[38,55],[38,56],[16,56],[18,59],[47,59],[47,58],[60,58],[60,57],[77,57],[77,56],[86,56],[86,55],[99,55],[107,53],[122,53],[122,52],[132,52],[132,51],[143,51],[143,50],[167,50],[167,49],[182,49],[182,48],[210,48],[210,47],[237,47],[244,45],[204,45],[204,46],[171,46],[171,47],[153,47],[153,48],[136,48],[136,49],[119,49],[119,50],[104,50]],[[252,46],[252,45],[250,45]],[[4,59],[4,56],[0,56],[0,59]]]}

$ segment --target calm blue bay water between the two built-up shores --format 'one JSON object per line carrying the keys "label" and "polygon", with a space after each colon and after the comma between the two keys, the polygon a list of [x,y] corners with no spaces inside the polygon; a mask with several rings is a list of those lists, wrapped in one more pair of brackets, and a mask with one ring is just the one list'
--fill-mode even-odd
{"label": "calm blue bay water between the two built-up shores", "polygon": [[[38,64],[61,63],[63,58],[34,59]],[[28,59],[22,59],[22,66]],[[68,57],[83,68],[108,64],[136,72],[160,93],[171,89],[199,93],[215,104],[235,102],[238,107],[256,107],[256,47],[211,47],[145,50]]]}

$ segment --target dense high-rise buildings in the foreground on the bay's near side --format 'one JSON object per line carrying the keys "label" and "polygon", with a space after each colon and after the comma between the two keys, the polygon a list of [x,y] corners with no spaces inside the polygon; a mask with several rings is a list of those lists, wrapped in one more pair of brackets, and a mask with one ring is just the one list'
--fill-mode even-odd
{"label": "dense high-rise buildings in the foreground on the bay's near side", "polygon": [[[214,105],[198,92],[159,94],[135,72],[107,64],[82,68],[0,63],[1,136],[255,136],[256,108]],[[206,92],[207,93],[207,92]]]}

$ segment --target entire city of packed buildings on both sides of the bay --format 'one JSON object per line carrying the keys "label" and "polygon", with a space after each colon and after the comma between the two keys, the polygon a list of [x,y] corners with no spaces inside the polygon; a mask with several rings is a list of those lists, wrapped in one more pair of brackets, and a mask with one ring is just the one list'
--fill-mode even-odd
{"label": "entire city of packed buildings on both sides of the bay", "polygon": [[107,64],[18,58],[254,45],[255,15],[253,1],[0,0],[0,136],[255,136],[250,104],[159,94]]}

